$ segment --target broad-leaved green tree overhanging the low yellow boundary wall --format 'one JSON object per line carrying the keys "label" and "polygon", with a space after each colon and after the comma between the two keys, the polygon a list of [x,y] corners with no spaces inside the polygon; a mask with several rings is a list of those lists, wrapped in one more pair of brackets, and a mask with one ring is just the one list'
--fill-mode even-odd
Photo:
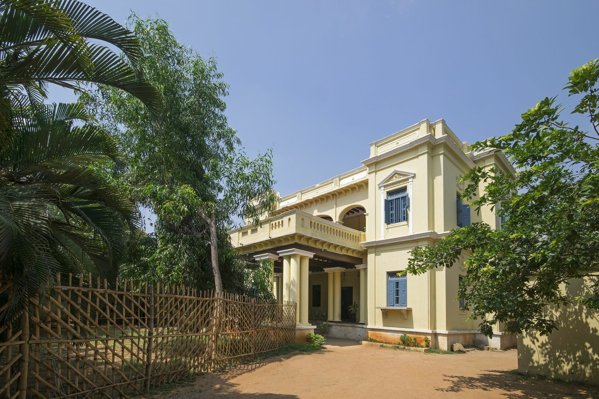
{"label": "broad-leaved green tree overhanging the low yellow boundary wall", "polygon": [[[546,306],[577,300],[599,309],[599,60],[574,69],[565,85],[579,96],[571,111],[589,122],[588,130],[567,123],[565,107],[545,98],[522,114],[510,134],[480,141],[474,150],[502,151],[515,165],[515,176],[475,168],[462,198],[485,191],[471,207],[490,206],[504,216],[502,229],[485,223],[454,229],[436,246],[412,250],[410,273],[452,267],[462,252],[467,275],[459,289],[480,330],[492,334],[496,322],[506,331],[549,334],[555,320]],[[584,279],[588,295],[570,298],[560,290],[571,279]]]}

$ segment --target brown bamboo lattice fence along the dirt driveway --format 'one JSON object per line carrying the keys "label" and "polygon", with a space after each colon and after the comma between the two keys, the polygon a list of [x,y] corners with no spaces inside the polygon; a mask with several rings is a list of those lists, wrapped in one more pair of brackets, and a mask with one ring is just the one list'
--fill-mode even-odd
{"label": "brown bamboo lattice fence along the dirt driveway", "polygon": [[[128,398],[295,340],[295,303],[126,280],[113,288],[57,276],[48,297],[0,325],[0,398]],[[0,280],[0,312],[12,295]]]}

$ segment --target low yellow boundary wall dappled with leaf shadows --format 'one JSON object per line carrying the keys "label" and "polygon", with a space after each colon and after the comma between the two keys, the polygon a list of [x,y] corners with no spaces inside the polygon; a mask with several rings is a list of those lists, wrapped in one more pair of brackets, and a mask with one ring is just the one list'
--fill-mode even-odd
{"label": "low yellow boundary wall dappled with leaf shadows", "polygon": [[[597,277],[562,285],[570,297],[588,295]],[[584,282],[584,283],[583,283]],[[518,335],[518,370],[564,380],[599,382],[599,312],[576,302],[549,307],[546,315],[559,324],[550,335]]]}

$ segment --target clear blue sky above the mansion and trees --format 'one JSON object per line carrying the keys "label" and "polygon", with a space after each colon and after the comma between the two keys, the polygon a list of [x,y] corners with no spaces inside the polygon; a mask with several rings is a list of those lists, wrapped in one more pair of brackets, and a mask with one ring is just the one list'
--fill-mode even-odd
{"label": "clear blue sky above the mansion and trees", "polygon": [[470,143],[505,134],[599,57],[596,0],[86,2],[121,23],[130,9],[158,14],[214,53],[229,123],[248,153],[273,147],[282,195],[358,167],[368,143],[425,118]]}

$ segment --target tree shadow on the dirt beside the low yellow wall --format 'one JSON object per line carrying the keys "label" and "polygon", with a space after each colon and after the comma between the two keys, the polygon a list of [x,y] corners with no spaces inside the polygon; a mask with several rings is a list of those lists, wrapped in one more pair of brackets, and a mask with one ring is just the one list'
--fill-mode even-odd
{"label": "tree shadow on the dirt beside the low yellow wall", "polygon": [[481,389],[482,391],[508,391],[501,395],[509,399],[521,398],[563,398],[563,397],[599,397],[599,386],[574,385],[573,383],[552,381],[559,386],[555,392],[548,393],[547,380],[534,379],[515,374],[512,371],[484,370],[476,377],[450,376],[443,374],[449,383],[446,388],[437,388],[441,392],[460,393]]}

